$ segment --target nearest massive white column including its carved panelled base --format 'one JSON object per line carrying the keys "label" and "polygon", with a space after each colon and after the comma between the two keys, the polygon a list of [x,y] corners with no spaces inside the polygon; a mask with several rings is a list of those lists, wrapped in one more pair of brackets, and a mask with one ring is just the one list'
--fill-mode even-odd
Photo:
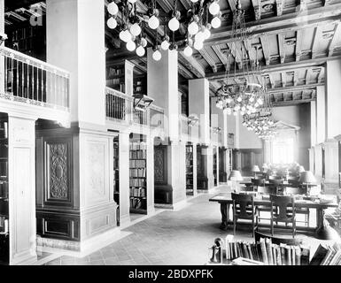
{"label": "nearest massive white column including its carved panelled base", "polygon": [[57,130],[40,133],[43,158],[37,166],[42,180],[50,181],[39,183],[38,195],[56,189],[46,173],[56,164],[46,164],[44,158],[57,159],[66,185],[37,203],[39,241],[82,251],[110,241],[117,232],[113,134],[105,127],[105,1],[47,0],[46,33],[47,62],[71,73],[72,127],[60,129],[60,135]]}

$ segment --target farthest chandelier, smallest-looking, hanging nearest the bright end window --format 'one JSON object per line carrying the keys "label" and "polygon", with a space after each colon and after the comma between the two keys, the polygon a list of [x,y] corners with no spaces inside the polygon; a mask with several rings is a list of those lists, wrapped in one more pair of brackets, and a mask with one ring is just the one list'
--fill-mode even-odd
{"label": "farthest chandelier, smallest-looking, hanging nearest the bright end window", "polygon": [[[267,93],[267,89],[265,91]],[[269,96],[265,96],[265,103],[259,111],[253,114],[244,114],[243,125],[253,131],[260,139],[271,140],[277,134],[272,114],[272,105]]]}

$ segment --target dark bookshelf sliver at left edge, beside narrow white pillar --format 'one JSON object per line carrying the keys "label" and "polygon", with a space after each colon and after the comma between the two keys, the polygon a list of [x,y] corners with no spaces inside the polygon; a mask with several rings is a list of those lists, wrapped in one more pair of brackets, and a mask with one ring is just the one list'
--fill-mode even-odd
{"label": "dark bookshelf sliver at left edge, beside narrow white pillar", "polygon": [[0,265],[9,264],[8,119],[0,118]]}

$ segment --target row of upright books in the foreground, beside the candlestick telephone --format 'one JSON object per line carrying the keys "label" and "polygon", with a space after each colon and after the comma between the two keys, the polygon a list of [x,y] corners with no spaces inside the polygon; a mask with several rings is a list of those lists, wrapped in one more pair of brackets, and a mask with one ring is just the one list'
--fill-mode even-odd
{"label": "row of upright books in the foreground, beside the candlestick telephone", "polygon": [[225,241],[226,258],[233,260],[243,257],[265,265],[308,265],[310,248],[300,245],[274,244],[270,238],[261,238],[259,242],[234,241],[228,235]]}

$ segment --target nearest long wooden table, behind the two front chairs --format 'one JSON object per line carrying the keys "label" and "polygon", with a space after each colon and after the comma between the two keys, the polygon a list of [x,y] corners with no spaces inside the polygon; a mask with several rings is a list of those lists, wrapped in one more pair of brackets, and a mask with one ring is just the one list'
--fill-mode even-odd
{"label": "nearest long wooden table, behind the two front chairs", "polygon": [[[229,224],[233,224],[233,219],[229,218],[229,207],[232,204],[232,198],[230,193],[220,193],[214,195],[209,199],[210,202],[221,204],[221,229],[227,229]],[[254,198],[254,204],[270,207],[271,203],[268,199]],[[327,208],[337,207],[337,203],[319,203],[312,200],[296,200],[295,205],[298,208],[307,208],[316,210],[316,227],[310,226],[296,226],[298,230],[311,231],[315,233],[321,233],[325,227],[324,210]],[[269,224],[260,224],[260,226],[269,226]],[[290,228],[281,226],[281,228]]]}

